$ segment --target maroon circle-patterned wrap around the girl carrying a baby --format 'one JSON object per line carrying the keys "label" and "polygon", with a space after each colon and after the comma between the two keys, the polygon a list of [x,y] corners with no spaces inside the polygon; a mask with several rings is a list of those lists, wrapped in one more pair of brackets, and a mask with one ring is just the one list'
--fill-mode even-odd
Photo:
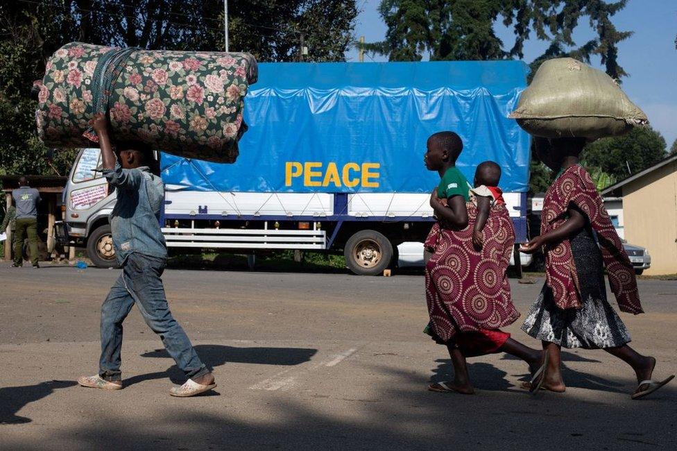
{"label": "maroon circle-patterned wrap around the girl carrying a baby", "polygon": [[484,245],[472,245],[477,207],[468,203],[468,227],[446,230],[436,223],[425,242],[434,253],[425,270],[426,300],[434,331],[444,341],[456,332],[496,329],[520,316],[510,296],[506,270],[515,243],[505,205],[491,207],[482,231]]}

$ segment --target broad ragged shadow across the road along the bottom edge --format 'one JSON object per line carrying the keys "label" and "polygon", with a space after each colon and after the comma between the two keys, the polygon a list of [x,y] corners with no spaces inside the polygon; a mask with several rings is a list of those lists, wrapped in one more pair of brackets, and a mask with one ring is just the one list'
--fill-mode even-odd
{"label": "broad ragged shadow across the road along the bottom edge", "polygon": [[[438,364],[449,365],[448,360]],[[361,380],[341,388],[336,380],[307,391],[247,391],[216,407],[189,400],[153,400],[153,409],[135,403],[94,409],[87,420],[49,429],[48,447],[122,450],[194,449],[674,449],[677,391],[665,387],[641,402],[629,396],[590,393],[486,391],[504,371],[472,364],[483,390],[474,396],[430,393],[428,375],[408,367],[366,364],[379,378],[365,391]],[[613,382],[621,382],[615,379]],[[628,380],[626,379],[627,383]],[[373,382],[372,382],[373,383]],[[252,394],[253,393],[253,394]],[[367,394],[368,393],[368,394]],[[227,403],[227,404],[226,404]],[[249,418],[248,409],[263,409]],[[123,411],[127,409],[128,411]],[[359,411],[359,416],[352,413]],[[85,411],[85,414],[87,412]],[[43,449],[40,432],[15,433],[6,449]],[[0,436],[1,439],[1,436]]]}

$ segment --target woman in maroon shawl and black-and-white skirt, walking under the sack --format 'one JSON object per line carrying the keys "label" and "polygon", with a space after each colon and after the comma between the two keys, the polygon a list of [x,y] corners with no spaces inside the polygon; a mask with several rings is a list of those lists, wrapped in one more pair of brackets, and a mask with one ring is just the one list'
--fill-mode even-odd
{"label": "woman in maroon shawl and black-and-white skirt, walking under the sack", "polygon": [[546,282],[522,325],[549,355],[542,388],[566,389],[562,347],[603,349],[632,366],[637,376],[632,398],[643,398],[674,375],[652,380],[655,358],[628,346],[630,334],[606,299],[605,266],[621,311],[643,312],[630,259],[590,174],[579,164],[585,138],[536,138],[535,144],[538,158],[558,171],[543,201],[541,235],[520,248],[524,253],[542,248],[545,253]]}

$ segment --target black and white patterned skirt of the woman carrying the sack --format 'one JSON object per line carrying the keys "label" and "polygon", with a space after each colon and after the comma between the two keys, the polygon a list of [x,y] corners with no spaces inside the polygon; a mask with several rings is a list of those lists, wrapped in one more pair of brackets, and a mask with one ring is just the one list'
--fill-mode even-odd
{"label": "black and white patterned skirt of the woman carrying the sack", "polygon": [[616,348],[629,343],[628,329],[606,300],[602,257],[590,228],[583,228],[571,244],[583,307],[560,309],[552,290],[544,284],[522,330],[535,339],[563,348]]}

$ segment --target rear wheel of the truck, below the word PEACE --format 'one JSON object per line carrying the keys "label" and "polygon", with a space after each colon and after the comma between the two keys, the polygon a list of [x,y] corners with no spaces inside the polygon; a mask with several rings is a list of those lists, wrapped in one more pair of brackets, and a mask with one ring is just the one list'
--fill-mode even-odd
{"label": "rear wheel of the truck, below the word PEACE", "polygon": [[393,259],[393,245],[375,230],[360,230],[343,249],[345,265],[357,275],[379,275]]}

